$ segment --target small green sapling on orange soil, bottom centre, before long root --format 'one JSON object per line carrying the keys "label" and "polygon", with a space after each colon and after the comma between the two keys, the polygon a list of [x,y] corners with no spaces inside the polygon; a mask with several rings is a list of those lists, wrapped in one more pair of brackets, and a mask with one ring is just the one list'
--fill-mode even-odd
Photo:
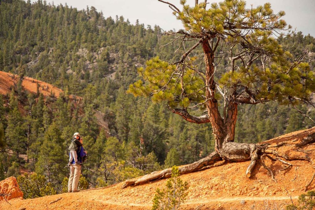
{"label": "small green sapling on orange soil, bottom centre, before long root", "polygon": [[166,182],[166,189],[157,188],[153,198],[152,210],[178,210],[185,201],[188,183],[183,182],[179,177],[178,167],[172,167],[172,175]]}

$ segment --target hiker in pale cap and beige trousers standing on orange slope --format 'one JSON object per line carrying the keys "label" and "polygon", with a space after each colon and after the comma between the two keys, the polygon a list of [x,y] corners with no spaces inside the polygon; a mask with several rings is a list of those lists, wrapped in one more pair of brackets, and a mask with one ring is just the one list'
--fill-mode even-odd
{"label": "hiker in pale cap and beige trousers standing on orange slope", "polygon": [[[76,135],[80,135],[79,133],[75,133]],[[75,136],[75,135],[73,135]],[[72,162],[70,163],[70,176],[68,181],[68,192],[78,192],[77,186],[79,184],[79,179],[81,175],[82,162],[83,157],[86,156],[87,151],[83,148],[83,139],[79,136],[78,142],[81,146],[75,151],[77,156],[77,161],[74,160],[74,156]],[[69,154],[71,156],[71,154]]]}

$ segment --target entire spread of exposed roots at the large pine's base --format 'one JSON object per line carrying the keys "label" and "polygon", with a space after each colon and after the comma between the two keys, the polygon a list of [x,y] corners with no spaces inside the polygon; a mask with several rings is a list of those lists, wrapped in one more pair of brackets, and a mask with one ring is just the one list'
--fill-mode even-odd
{"label": "entire spread of exposed roots at the large pine's base", "polygon": [[[297,141],[291,140],[286,142],[280,142],[276,145],[271,144],[244,144],[244,143],[236,143],[236,142],[225,142],[221,150],[219,152],[213,152],[209,156],[199,160],[198,162],[194,162],[192,164],[188,164],[179,168],[180,174],[191,173],[195,171],[204,170],[211,167],[216,167],[223,165],[226,160],[233,162],[241,162],[251,160],[247,170],[246,176],[250,177],[252,175],[252,171],[255,168],[257,161],[260,160],[261,165],[270,173],[272,180],[277,183],[275,179],[274,172],[271,168],[267,167],[265,164],[265,159],[269,158],[272,161],[279,161],[286,165],[284,168],[279,171],[283,171],[292,167],[293,165],[287,161],[293,160],[304,160],[311,162],[312,160],[312,150],[305,150],[304,147],[308,144],[315,142],[315,133],[312,133],[305,138],[301,139],[301,142],[298,144],[292,144],[292,142]],[[290,146],[289,149],[279,150],[282,146]],[[291,152],[294,151],[294,152]],[[283,160],[285,159],[285,160]],[[220,162],[219,162],[220,161]],[[315,167],[314,167],[315,168]],[[169,178],[171,176],[171,169],[164,169],[162,171],[155,171],[151,174],[144,175],[138,179],[129,179],[126,180],[123,184],[122,188],[144,184],[150,181],[156,181],[158,179]],[[312,184],[312,181],[315,179],[315,173],[312,177],[312,180],[306,185],[305,190]]]}

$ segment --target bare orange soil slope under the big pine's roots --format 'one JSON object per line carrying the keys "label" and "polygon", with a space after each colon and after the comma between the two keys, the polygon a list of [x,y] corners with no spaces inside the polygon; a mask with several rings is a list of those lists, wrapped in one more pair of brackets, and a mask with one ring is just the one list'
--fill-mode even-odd
{"label": "bare orange soil slope under the big pine's roots", "polygon": [[[315,128],[297,131],[268,140],[268,143],[277,144],[285,141],[287,144],[296,144],[307,135],[314,133]],[[292,147],[284,146],[272,148],[279,154],[295,152],[301,156],[305,153],[292,151]],[[309,156],[315,158],[315,143],[306,145],[303,150],[310,152]],[[257,164],[252,177],[247,178],[245,171],[249,162],[228,162],[222,166],[207,170],[184,174],[181,179],[190,185],[188,197],[183,204],[183,209],[277,209],[290,204],[290,196],[296,202],[299,195],[304,193],[305,185],[311,180],[315,172],[312,164],[307,161],[289,161],[293,164],[286,170],[279,171],[285,166],[279,161],[266,160],[266,165],[275,173],[275,183],[268,171]],[[13,199],[0,202],[0,209],[151,209],[152,198],[157,188],[165,186],[166,179],[154,181],[140,186],[121,189],[123,183],[106,188],[84,190],[77,193],[64,193],[54,196],[46,196],[36,199]],[[308,190],[315,189],[315,181]],[[49,204],[50,201],[61,197],[60,201]],[[270,208],[266,208],[269,205]],[[280,208],[282,206],[282,208]]]}

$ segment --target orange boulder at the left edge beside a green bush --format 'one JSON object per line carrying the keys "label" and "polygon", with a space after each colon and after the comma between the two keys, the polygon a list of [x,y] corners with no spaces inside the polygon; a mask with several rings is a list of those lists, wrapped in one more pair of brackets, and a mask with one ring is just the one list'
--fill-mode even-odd
{"label": "orange boulder at the left edge beside a green bush", "polygon": [[[0,182],[0,194],[9,194],[9,196],[5,196],[7,200],[23,197],[23,192],[20,190],[16,178],[13,176]],[[4,200],[4,198],[0,196],[0,201],[2,200]]]}

